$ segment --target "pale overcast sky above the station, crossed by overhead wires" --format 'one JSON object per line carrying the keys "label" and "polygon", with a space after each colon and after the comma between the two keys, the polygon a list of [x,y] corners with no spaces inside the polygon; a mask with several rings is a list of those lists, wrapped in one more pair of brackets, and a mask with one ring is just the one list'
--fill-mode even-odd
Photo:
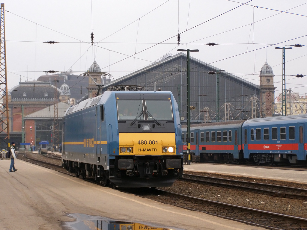
{"label": "pale overcast sky above the station, crossed by overhead wires", "polygon": [[[275,47],[307,45],[307,0],[9,0],[4,4],[8,89],[48,70],[71,69],[79,75],[94,59],[117,79],[168,52],[174,55],[178,48],[189,48],[199,49],[190,53],[192,57],[257,85],[267,60],[279,94],[282,50]],[[211,42],[220,45],[205,45]],[[307,75],[306,66],[307,46],[286,50],[287,89],[307,93],[307,77],[290,76]]]}

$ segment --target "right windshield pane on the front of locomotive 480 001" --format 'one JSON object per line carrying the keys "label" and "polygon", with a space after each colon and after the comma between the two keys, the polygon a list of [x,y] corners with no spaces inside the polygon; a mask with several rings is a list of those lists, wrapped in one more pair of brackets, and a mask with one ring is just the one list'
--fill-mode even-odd
{"label": "right windshield pane on the front of locomotive 480 001", "polygon": [[147,120],[173,120],[171,100],[145,100]]}

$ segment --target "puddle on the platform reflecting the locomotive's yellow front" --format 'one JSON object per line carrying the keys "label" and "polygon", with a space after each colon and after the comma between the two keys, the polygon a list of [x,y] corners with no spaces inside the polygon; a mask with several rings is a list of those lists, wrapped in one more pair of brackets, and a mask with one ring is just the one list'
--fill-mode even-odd
{"label": "puddle on the platform reflecting the locomotive's yellow front", "polygon": [[68,216],[76,220],[65,222],[64,226],[73,230],[184,230],[182,228],[165,228],[158,224],[152,226],[153,224],[148,225],[145,222],[134,223],[80,213],[68,214]]}

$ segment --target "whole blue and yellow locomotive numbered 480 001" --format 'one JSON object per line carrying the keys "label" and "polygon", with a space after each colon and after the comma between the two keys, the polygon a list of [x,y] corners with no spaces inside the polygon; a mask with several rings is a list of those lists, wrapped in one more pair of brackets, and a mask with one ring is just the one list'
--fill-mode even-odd
{"label": "whole blue and yellow locomotive numbered 480 001", "polygon": [[105,91],[63,117],[62,165],[104,186],[170,186],[183,174],[181,125],[171,92]]}

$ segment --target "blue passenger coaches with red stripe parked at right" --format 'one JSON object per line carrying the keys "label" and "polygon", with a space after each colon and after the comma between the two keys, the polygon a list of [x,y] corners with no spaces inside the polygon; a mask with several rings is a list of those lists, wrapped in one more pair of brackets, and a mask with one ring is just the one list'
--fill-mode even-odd
{"label": "blue passenger coaches with red stripe parked at right", "polygon": [[191,154],[200,161],[297,164],[307,161],[306,122],[307,115],[298,115],[191,125]]}

